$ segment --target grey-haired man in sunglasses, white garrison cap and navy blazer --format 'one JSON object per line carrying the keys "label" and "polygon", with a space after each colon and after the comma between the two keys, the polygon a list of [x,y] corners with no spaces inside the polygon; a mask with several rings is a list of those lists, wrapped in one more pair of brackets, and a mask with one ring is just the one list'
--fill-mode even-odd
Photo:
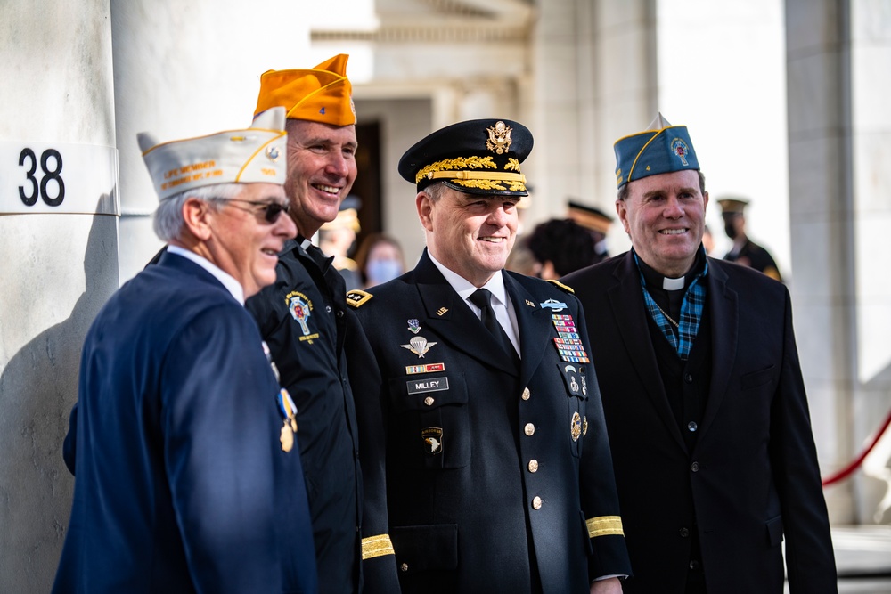
{"label": "grey-haired man in sunglasses, white garrison cap and navy blazer", "polygon": [[139,144],[168,250],[87,333],[53,592],[314,594],[294,407],[243,307],[296,232],[282,216],[284,110]]}

